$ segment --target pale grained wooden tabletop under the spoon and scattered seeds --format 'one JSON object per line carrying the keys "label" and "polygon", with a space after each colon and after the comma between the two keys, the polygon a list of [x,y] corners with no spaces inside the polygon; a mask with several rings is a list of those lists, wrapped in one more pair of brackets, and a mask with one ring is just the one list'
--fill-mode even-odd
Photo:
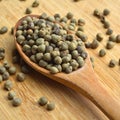
{"label": "pale grained wooden tabletop under the spoon and scattered seeds", "polygon": [[[24,16],[26,7],[31,5],[32,1],[20,2],[18,0],[3,0],[0,2],[0,27],[7,26],[10,28],[15,25],[17,20]],[[120,33],[120,0],[82,0],[74,3],[72,0],[49,0],[40,1],[38,8],[33,8],[34,14],[46,12],[49,15],[60,13],[65,15],[68,11],[74,13],[75,18],[84,18],[86,20],[85,32],[89,37],[89,41],[95,37],[98,32],[105,34],[102,24],[99,20],[92,16],[95,8],[101,11],[104,8],[111,10],[111,14],[107,17],[111,23],[114,34]],[[107,51],[104,58],[98,57],[100,48],[105,47],[108,37],[104,36],[99,48],[89,50],[91,56],[95,59],[95,72],[101,78],[101,82],[110,88],[113,97],[120,98],[120,67],[109,68],[108,62],[111,58],[118,60],[120,58],[119,46]],[[6,59],[11,62],[11,52],[15,44],[13,36],[8,32],[0,35],[0,47],[6,49]],[[19,71],[19,66],[18,71]],[[7,100],[7,92],[3,90],[3,83],[0,85],[0,120],[108,120],[96,106],[81,94],[76,93],[65,86],[51,81],[43,75],[32,71],[23,83],[18,83],[15,76],[11,79],[14,82],[14,88],[17,95],[22,98],[23,103],[20,107],[12,107],[11,101]],[[98,93],[99,94],[99,93]],[[47,96],[49,100],[55,101],[56,109],[48,112],[45,107],[40,107],[37,100],[41,96]],[[106,98],[107,99],[107,98]],[[114,107],[114,106],[113,106]],[[117,108],[116,108],[117,109]]]}

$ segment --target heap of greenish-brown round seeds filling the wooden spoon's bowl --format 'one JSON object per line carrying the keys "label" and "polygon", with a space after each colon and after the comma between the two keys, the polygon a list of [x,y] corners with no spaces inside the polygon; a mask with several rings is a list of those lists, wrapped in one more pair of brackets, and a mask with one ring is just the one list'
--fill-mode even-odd
{"label": "heap of greenish-brown round seeds filling the wooden spoon's bowl", "polygon": [[[40,67],[51,73],[70,73],[84,65],[87,53],[80,38],[54,21],[54,17],[44,14],[39,18],[28,16],[18,26],[16,40],[30,60]],[[77,35],[82,34],[79,31]]]}

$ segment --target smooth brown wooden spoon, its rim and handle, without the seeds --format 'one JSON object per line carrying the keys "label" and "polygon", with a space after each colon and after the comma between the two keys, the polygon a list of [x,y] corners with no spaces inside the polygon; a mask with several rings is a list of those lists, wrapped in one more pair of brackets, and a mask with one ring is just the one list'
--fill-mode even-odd
{"label": "smooth brown wooden spoon, its rim and handle, without the seeds", "polygon": [[[31,17],[39,17],[38,15],[29,15]],[[95,74],[89,56],[86,59],[84,67],[70,73],[57,73],[51,74],[48,70],[33,63],[22,51],[21,46],[16,41],[16,30],[21,24],[21,21],[27,16],[21,18],[14,29],[14,39],[18,52],[21,57],[28,63],[33,69],[42,73],[43,75],[64,84],[73,90],[82,93],[90,101],[92,101],[107,117],[111,120],[120,120],[120,101],[116,96],[113,96],[109,88],[103,85],[97,75]]]}

